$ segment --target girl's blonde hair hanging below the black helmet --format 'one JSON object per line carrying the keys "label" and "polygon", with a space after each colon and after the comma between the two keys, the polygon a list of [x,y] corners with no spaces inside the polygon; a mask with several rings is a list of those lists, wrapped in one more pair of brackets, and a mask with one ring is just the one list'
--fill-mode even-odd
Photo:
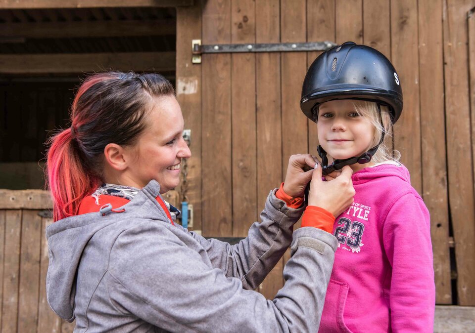
{"label": "girl's blonde hair hanging below the black helmet", "polygon": [[[387,161],[397,162],[401,158],[401,154],[397,150],[392,149],[393,126],[389,108],[385,105],[380,105],[381,111],[379,111],[378,104],[375,102],[361,100],[355,100],[353,105],[355,106],[356,112],[367,119],[375,128],[370,148],[380,143],[382,131],[384,130],[384,141],[380,144],[371,161],[374,163]],[[381,117],[379,115],[380,112]]]}

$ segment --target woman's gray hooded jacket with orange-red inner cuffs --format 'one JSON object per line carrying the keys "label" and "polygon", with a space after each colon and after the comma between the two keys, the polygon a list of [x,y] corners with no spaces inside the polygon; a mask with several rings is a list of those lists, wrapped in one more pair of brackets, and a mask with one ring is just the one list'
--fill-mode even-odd
{"label": "woman's gray hooded jacket with orange-red inner cuffs", "polygon": [[[246,239],[207,240],[172,225],[150,181],[124,212],[72,216],[47,227],[47,299],[74,332],[317,332],[336,239],[293,232],[285,286],[254,291],[292,241],[303,208],[267,198]],[[117,210],[118,211],[118,210]]]}

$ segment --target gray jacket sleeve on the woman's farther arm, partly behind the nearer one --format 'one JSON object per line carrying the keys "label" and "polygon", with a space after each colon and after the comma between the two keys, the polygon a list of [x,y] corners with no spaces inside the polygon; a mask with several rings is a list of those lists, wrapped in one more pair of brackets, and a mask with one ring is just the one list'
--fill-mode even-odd
{"label": "gray jacket sleeve on the woman's farther arm, partly behind the nearer one", "polygon": [[226,277],[241,280],[245,289],[254,290],[274,268],[292,241],[293,225],[304,208],[288,208],[283,200],[269,193],[261,222],[251,225],[248,236],[236,245],[191,235],[207,251],[211,264]]}

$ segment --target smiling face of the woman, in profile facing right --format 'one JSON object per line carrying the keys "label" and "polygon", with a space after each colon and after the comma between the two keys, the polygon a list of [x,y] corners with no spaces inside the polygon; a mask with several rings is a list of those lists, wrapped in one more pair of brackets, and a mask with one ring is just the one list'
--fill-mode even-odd
{"label": "smiling face of the woman, in profile facing right", "polygon": [[153,107],[145,115],[145,129],[133,147],[136,158],[129,164],[128,177],[142,188],[152,179],[163,194],[180,183],[180,163],[191,156],[183,139],[183,116],[174,96],[153,98]]}

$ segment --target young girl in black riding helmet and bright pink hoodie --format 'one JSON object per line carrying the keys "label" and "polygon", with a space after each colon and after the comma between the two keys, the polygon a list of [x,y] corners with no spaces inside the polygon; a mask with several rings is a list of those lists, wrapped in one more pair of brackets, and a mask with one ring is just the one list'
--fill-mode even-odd
{"label": "young girl in black riding helmet and bright pink hoodie", "polygon": [[320,332],[432,332],[429,213],[383,142],[402,111],[392,64],[368,46],[334,47],[310,67],[301,108],[317,123],[324,174],[349,165],[356,191],[333,226],[338,249]]}

